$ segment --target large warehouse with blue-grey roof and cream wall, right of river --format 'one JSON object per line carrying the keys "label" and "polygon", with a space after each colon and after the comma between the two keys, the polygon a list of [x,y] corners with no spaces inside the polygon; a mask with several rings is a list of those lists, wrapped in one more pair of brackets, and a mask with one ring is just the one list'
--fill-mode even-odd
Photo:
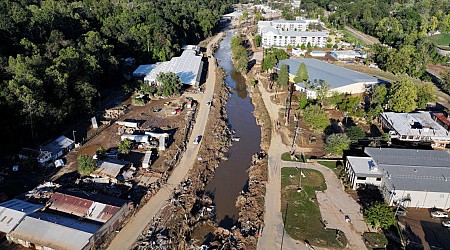
{"label": "large warehouse with blue-grey roof and cream wall, right of river", "polygon": [[326,63],[313,58],[286,59],[277,65],[277,70],[282,64],[286,64],[289,70],[290,80],[294,82],[300,64],[305,63],[308,71],[311,87],[306,88],[304,83],[296,83],[298,91],[306,92],[307,97],[315,99],[318,83],[327,82],[330,85],[330,93],[359,94],[367,91],[367,88],[382,82],[380,79],[357,71],[346,69],[334,64]]}

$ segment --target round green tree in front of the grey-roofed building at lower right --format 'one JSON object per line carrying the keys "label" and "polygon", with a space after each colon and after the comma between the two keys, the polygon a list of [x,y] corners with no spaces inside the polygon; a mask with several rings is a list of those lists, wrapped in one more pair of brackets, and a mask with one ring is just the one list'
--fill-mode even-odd
{"label": "round green tree in front of the grey-roofed building at lower right", "polygon": [[368,224],[376,230],[388,229],[395,224],[394,212],[384,203],[375,203],[364,211],[364,217]]}

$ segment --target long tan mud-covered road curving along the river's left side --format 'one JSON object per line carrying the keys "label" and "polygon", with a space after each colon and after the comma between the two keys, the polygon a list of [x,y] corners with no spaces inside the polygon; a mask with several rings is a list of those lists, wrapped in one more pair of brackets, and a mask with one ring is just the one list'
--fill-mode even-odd
{"label": "long tan mud-covered road curving along the river's left side", "polygon": [[116,235],[108,249],[111,250],[124,250],[130,249],[136,242],[139,235],[144,231],[148,223],[157,213],[168,204],[168,200],[172,195],[175,187],[177,187],[187,176],[189,170],[197,160],[199,145],[194,145],[192,142],[198,135],[203,135],[206,127],[206,122],[209,116],[209,106],[206,105],[213,97],[214,86],[216,82],[216,63],[212,57],[211,45],[216,43],[222,33],[216,35],[211,39],[207,46],[207,55],[211,56],[208,59],[208,77],[206,79],[206,90],[203,98],[200,101],[200,108],[197,114],[196,122],[192,130],[191,138],[187,145],[186,152],[181,158],[179,164],[174,169],[172,175],[169,177],[167,184],[164,185],[161,190],[153,196],[147,204],[145,204],[122,228],[122,230]]}

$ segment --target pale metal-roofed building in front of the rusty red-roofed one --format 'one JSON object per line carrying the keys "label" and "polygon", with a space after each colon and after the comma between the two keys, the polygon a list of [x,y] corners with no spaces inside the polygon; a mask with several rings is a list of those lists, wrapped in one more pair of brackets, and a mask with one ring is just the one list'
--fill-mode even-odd
{"label": "pale metal-roofed building in front of the rusty red-roofed one", "polygon": [[100,225],[75,218],[37,212],[26,216],[8,238],[29,247],[80,250],[99,228]]}

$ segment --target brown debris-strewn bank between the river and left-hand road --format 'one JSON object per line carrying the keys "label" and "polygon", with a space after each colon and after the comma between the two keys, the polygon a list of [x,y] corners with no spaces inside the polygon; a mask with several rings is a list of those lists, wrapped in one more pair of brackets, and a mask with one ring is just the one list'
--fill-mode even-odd
{"label": "brown debris-strewn bank between the river and left-hand road", "polygon": [[198,161],[189,172],[188,178],[173,192],[170,204],[141,235],[135,248],[152,248],[157,241],[159,246],[171,249],[200,246],[204,242],[222,245],[225,244],[224,239],[229,236],[227,230],[218,227],[213,197],[205,192],[205,186],[213,178],[219,162],[226,160],[226,153],[231,146],[231,132],[225,109],[230,90],[223,80],[225,72],[218,69],[218,81]]}

